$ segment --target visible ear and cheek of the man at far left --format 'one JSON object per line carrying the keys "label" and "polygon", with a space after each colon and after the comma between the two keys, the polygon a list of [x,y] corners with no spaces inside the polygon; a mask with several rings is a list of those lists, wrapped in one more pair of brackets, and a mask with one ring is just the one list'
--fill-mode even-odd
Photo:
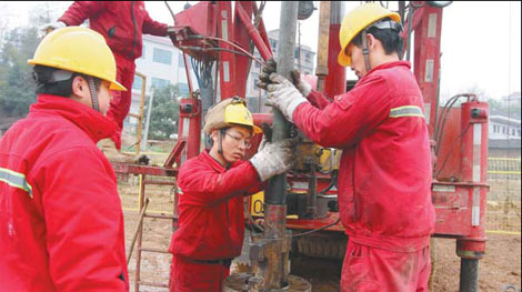
{"label": "visible ear and cheek of the man at far left", "polygon": [[[98,92],[97,92],[99,111],[103,115],[107,115],[107,111],[109,110],[109,105],[112,99],[112,95],[109,90],[110,84],[111,83],[109,81],[102,80],[100,88],[98,89]],[[93,109],[91,92],[89,90],[89,83],[84,78],[76,77],[73,79],[72,93],[73,93],[72,99]]]}

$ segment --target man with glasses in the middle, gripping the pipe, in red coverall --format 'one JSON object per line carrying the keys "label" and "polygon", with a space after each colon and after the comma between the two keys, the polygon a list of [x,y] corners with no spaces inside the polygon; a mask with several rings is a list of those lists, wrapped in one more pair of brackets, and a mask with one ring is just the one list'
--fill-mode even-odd
{"label": "man with glasses in the middle, gripping the pipe, in red coverall", "polygon": [[212,147],[184,162],[178,174],[179,229],[169,249],[171,292],[222,291],[243,244],[243,195],[260,191],[262,182],[294,161],[290,140],[267,142],[249,161],[241,160],[252,134],[262,132],[243,99],[217,103],[204,120]]}

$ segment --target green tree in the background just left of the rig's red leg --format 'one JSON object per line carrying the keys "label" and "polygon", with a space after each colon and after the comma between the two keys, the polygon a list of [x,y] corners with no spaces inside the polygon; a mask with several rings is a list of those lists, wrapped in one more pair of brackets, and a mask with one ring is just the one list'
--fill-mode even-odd
{"label": "green tree in the background just left of the rig's red leg", "polygon": [[[180,107],[177,97],[178,87],[175,85],[169,84],[161,89],[154,89],[149,139],[165,140],[178,132]],[[148,107],[149,101],[147,101],[145,112],[149,112]]]}

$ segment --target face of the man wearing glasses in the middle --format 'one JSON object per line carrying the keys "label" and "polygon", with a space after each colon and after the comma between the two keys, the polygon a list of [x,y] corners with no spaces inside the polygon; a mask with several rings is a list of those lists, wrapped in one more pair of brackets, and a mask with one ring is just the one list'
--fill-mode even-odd
{"label": "face of the man wearing glasses in the middle", "polygon": [[[212,139],[214,140],[213,147],[218,147],[218,135],[219,132],[215,131]],[[247,149],[250,148],[250,138],[251,130],[247,127],[233,125],[230,127],[227,132],[222,135],[221,147],[223,150],[223,158],[228,163],[234,163],[238,160],[244,158]]]}

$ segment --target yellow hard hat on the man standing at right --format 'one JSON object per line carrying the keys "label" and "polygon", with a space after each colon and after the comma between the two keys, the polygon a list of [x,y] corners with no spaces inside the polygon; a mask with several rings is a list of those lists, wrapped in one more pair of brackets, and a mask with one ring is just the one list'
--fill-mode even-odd
{"label": "yellow hard hat on the man standing at right", "polygon": [[339,42],[341,51],[338,56],[338,62],[341,66],[350,66],[351,58],[345,53],[348,44],[361,32],[364,28],[379,21],[383,18],[391,18],[395,22],[401,22],[401,17],[378,3],[364,3],[350,13],[348,13],[341,23],[339,31]]}

